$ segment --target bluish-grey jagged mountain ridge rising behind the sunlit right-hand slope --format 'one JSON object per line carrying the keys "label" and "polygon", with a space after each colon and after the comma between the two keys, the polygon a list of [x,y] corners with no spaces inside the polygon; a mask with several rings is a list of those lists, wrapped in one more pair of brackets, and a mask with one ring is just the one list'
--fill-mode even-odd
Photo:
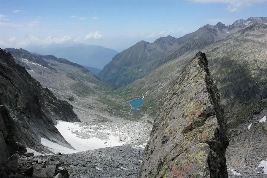
{"label": "bluish-grey jagged mountain ridge rising behind the sunlit right-hand slope", "polygon": [[117,87],[128,85],[141,79],[160,65],[169,62],[174,56],[179,57],[192,50],[201,50],[255,22],[267,23],[267,18],[236,20],[228,26],[218,22],[215,26],[204,25],[197,31],[180,38],[167,36],[160,37],[153,43],[140,41],[115,55],[98,76],[102,81]]}

